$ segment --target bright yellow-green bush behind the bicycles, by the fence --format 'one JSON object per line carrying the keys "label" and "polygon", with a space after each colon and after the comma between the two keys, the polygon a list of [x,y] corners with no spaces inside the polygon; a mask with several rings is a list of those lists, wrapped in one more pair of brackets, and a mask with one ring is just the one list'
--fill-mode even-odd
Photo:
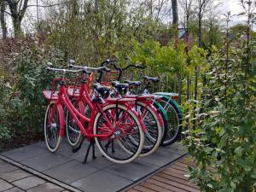
{"label": "bright yellow-green bush behind the bicycles, by the fence", "polygon": [[161,46],[156,41],[147,40],[143,44],[133,41],[133,51],[129,55],[132,63],[142,63],[147,66],[145,73],[150,76],[159,76],[162,81],[162,90],[172,90],[174,74],[183,74],[186,63],[184,44],[171,43]]}

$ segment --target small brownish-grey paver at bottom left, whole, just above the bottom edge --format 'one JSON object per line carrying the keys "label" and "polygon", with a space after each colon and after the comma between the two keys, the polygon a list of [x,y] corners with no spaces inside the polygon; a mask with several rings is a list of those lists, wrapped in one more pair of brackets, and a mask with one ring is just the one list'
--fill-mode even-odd
{"label": "small brownish-grey paver at bottom left, whole, just above the bottom edge", "polygon": [[45,183],[45,181],[39,177],[26,177],[22,178],[18,181],[13,182],[13,184],[20,189],[26,190],[26,189],[32,189],[34,187],[37,187],[38,185],[41,185]]}

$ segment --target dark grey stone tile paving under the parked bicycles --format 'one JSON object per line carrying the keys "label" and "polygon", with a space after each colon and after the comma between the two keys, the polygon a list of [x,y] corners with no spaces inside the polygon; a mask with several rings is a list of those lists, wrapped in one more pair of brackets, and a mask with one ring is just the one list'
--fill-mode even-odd
{"label": "dark grey stone tile paving under the parked bicycles", "polygon": [[[83,148],[78,153],[73,154],[72,148],[68,146],[67,142],[64,142],[61,143],[61,148],[55,154],[51,154],[45,143],[39,142],[5,151],[0,154],[0,158],[2,156],[8,160],[13,160],[33,172],[38,172],[47,178],[53,178],[54,181],[70,186],[68,189],[73,191],[104,192],[124,190],[143,177],[147,177],[162,166],[166,166],[186,154],[181,145],[174,143],[172,146],[157,149],[154,154],[148,157],[138,158],[130,164],[119,165],[113,164],[102,157],[102,154],[96,149],[96,160],[92,160],[91,155],[89,155],[88,162],[84,165],[82,161],[84,160],[86,145],[84,143]],[[5,167],[5,169],[8,172],[8,167]],[[9,172],[13,171],[15,170]],[[25,173],[17,171],[15,174],[17,176],[6,175],[6,178],[15,179],[19,175],[22,177],[22,174]],[[6,181],[3,179],[3,183]],[[48,191],[44,189],[50,188],[51,184],[43,181],[30,175],[4,183],[3,186],[9,189],[9,185],[14,188],[13,186],[16,184],[15,186],[19,189],[27,191]],[[25,186],[25,183],[31,183],[31,185]],[[33,186],[32,183],[38,184]],[[35,188],[38,188],[38,190],[32,190]],[[53,191],[58,191],[58,189]]]}

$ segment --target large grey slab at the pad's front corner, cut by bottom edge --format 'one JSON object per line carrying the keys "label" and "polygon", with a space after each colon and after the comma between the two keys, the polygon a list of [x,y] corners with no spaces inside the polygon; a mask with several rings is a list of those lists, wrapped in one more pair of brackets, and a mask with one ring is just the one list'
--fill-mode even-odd
{"label": "large grey slab at the pad's front corner, cut by bottom edge", "polygon": [[82,178],[72,183],[72,185],[86,192],[109,192],[122,189],[131,183],[131,180],[101,171],[89,177]]}

